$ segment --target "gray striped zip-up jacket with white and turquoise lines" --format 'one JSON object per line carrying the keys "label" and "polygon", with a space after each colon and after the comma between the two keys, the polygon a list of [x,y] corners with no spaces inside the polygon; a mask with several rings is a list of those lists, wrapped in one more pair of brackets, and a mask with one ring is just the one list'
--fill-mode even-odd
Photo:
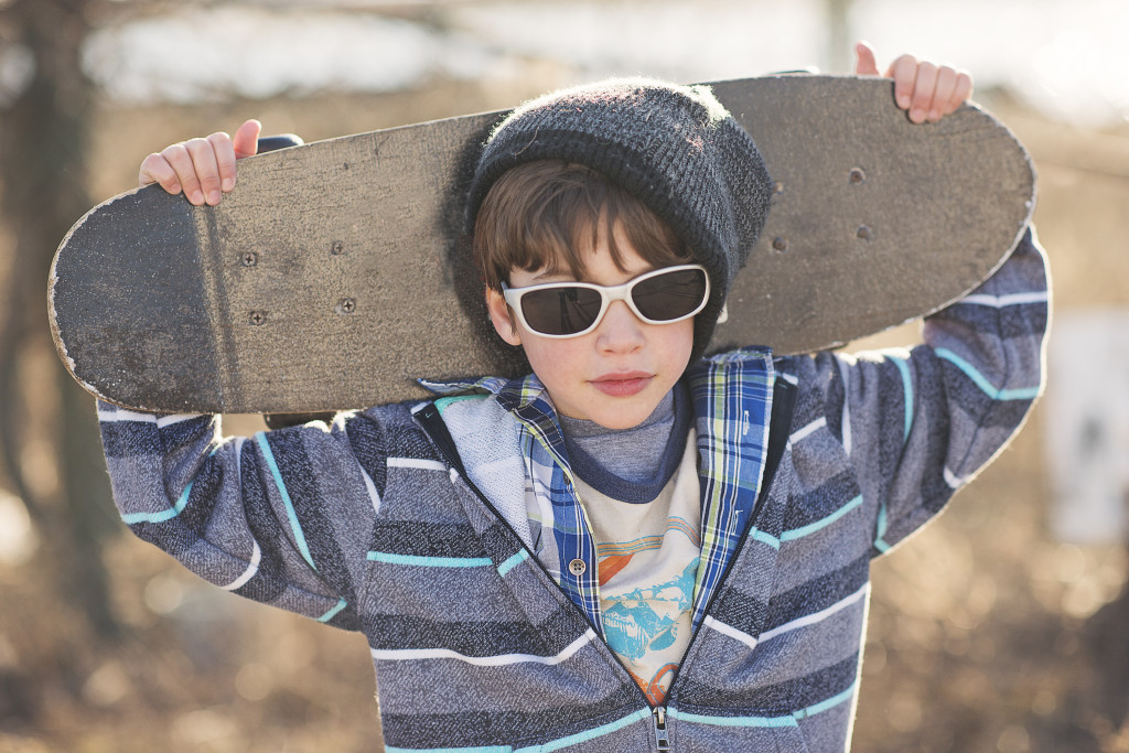
{"label": "gray striped zip-up jacket with white and turquoise lines", "polygon": [[[1019,427],[1048,306],[1029,235],[926,321],[926,344],[776,361],[791,411],[758,450],[776,446],[755,511],[663,709],[531,551],[504,491],[527,483],[518,419],[493,397],[446,438],[406,404],[253,438],[99,404],[103,443],[137,535],[221,588],[366,634],[390,751],[841,751],[869,562]],[[700,368],[724,383],[734,360]],[[741,420],[698,419],[707,443],[749,452]]]}

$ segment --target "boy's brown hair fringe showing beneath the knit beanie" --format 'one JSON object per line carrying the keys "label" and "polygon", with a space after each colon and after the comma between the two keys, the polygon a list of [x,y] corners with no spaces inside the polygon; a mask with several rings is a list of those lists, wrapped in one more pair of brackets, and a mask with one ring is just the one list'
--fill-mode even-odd
{"label": "boy's brown hair fringe showing beneath the knit beanie", "polygon": [[603,230],[612,261],[627,272],[616,224],[655,269],[693,260],[671,226],[622,186],[584,165],[548,159],[506,170],[490,187],[474,224],[474,263],[499,292],[513,269],[568,269],[580,280],[584,254]]}

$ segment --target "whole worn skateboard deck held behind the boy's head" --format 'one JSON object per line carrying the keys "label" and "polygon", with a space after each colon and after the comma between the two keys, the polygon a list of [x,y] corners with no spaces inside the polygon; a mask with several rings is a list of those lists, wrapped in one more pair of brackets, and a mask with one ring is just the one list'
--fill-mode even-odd
{"label": "whole worn skateboard deck held behind the boy's head", "polygon": [[[964,106],[913,125],[886,80],[714,84],[778,193],[712,350],[819,350],[928,314],[990,274],[1030,219],[1023,147]],[[217,208],[157,186],[96,207],[50,280],[60,356],[155,411],[305,412],[427,394],[417,377],[527,370],[490,329],[464,194],[498,113],[239,163]]]}

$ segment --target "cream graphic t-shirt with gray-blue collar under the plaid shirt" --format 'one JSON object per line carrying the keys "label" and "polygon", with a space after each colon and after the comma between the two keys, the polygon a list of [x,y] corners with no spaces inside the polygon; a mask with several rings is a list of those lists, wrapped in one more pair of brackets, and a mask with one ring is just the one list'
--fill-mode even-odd
{"label": "cream graphic t-shirt with gray-blue collar under the plaid shirt", "polygon": [[604,638],[655,706],[690,641],[701,504],[690,401],[675,387],[624,431],[561,418],[596,543]]}

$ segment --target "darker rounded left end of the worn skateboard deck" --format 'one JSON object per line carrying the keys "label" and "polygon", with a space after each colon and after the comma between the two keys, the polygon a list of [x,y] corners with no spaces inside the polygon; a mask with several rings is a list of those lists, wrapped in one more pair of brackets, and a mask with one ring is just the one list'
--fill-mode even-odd
{"label": "darker rounded left end of the worn skateboard deck", "polygon": [[71,376],[116,404],[194,409],[186,380],[198,393],[218,389],[208,376],[217,359],[203,286],[183,196],[154,186],[87,212],[55,253],[49,281],[52,336]]}

